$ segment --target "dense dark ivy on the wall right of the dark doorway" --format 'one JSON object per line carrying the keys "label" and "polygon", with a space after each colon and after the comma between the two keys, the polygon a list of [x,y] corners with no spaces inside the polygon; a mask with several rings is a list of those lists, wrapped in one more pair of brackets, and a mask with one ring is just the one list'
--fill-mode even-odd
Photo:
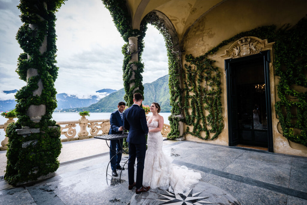
{"label": "dense dark ivy on the wall right of the dark doorway", "polygon": [[307,146],[307,19],[276,33],[274,66],[279,76],[275,109],[283,135]]}

